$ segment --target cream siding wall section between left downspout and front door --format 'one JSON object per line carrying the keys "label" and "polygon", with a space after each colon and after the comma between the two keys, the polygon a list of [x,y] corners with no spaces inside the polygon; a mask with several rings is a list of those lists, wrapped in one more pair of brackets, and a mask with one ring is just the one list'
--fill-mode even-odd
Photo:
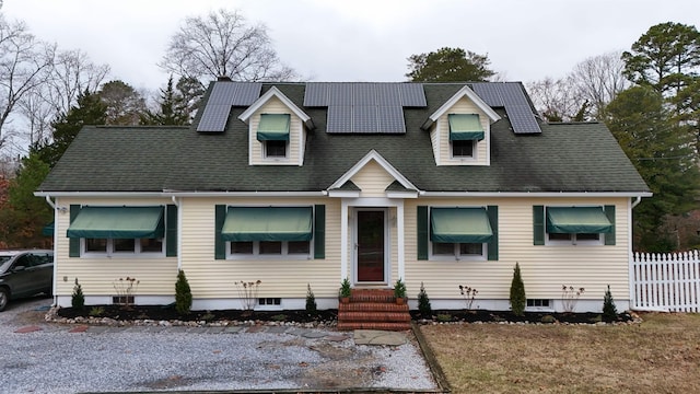
{"label": "cream siding wall section between left downspout and front door", "polygon": [[[324,259],[214,259],[215,205],[326,205]],[[340,285],[340,205],[335,199],[189,198],[183,206],[183,269],[196,299],[237,298],[234,282],[261,280],[259,297],[304,298],[306,283],[318,298],[336,297]],[[313,243],[313,241],[312,241]],[[237,302],[237,301],[235,301]],[[232,305],[238,308],[240,305]]]}

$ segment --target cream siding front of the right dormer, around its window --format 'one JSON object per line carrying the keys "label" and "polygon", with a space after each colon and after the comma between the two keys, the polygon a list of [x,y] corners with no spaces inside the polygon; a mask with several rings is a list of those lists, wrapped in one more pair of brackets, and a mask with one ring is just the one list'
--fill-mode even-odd
{"label": "cream siding front of the right dormer, around its window", "polygon": [[[483,128],[485,138],[478,141],[476,154],[474,159],[452,159],[452,150],[450,147],[450,123],[447,117],[450,114],[478,114],[479,121]],[[491,124],[489,117],[479,109],[469,99],[462,97],[452,108],[446,111],[435,123],[435,127],[431,130],[431,141],[433,143],[433,152],[440,154],[435,161],[438,165],[489,165],[489,143]]]}

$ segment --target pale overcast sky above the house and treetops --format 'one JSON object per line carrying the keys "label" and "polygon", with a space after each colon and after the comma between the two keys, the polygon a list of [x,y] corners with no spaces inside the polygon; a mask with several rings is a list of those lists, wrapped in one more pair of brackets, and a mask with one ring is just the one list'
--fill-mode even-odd
{"label": "pale overcast sky above the house and treetops", "polygon": [[183,19],[220,8],[264,23],[282,61],[314,81],[402,81],[410,55],[444,46],[488,55],[509,81],[557,78],[654,24],[700,22],[698,0],[4,0],[2,12],[155,90]]}

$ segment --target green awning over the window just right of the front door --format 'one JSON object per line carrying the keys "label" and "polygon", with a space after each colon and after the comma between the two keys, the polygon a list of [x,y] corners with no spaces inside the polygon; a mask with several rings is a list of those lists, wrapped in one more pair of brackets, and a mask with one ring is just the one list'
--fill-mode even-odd
{"label": "green awning over the window just right of the front door", "polygon": [[493,235],[483,208],[432,208],[430,240],[444,243],[483,243]]}

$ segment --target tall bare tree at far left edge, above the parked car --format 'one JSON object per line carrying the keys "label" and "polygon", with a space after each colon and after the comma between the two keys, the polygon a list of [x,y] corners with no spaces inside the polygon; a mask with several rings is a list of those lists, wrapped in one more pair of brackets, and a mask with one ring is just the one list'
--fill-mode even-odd
{"label": "tall bare tree at far left edge, above the parked car", "polygon": [[55,47],[38,42],[22,22],[0,14],[0,147],[8,138],[8,119],[28,92],[44,83]]}

